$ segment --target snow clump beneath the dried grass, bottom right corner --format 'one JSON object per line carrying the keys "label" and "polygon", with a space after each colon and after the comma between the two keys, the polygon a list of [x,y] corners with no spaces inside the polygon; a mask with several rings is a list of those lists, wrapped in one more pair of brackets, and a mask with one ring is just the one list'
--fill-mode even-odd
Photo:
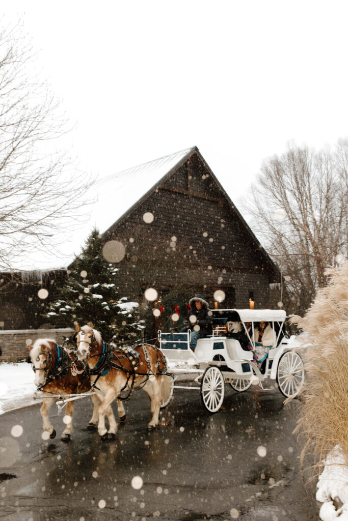
{"label": "snow clump beneath the dried grass, bottom right corner", "polygon": [[[336,445],[326,458],[325,467],[317,483],[316,499],[322,503],[322,521],[348,521],[348,466],[339,445]],[[336,510],[333,499],[339,498],[343,506]]]}

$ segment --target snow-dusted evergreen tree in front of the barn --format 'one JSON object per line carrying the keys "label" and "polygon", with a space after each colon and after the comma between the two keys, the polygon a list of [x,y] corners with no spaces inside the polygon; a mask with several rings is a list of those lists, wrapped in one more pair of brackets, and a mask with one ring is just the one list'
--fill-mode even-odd
{"label": "snow-dusted evergreen tree in front of the barn", "polygon": [[44,315],[55,327],[74,327],[93,322],[105,341],[115,336],[118,343],[141,337],[142,321],[135,316],[137,304],[119,298],[115,281],[118,268],[105,261],[102,239],[97,229],[89,235],[81,254],[68,271],[57,300]]}

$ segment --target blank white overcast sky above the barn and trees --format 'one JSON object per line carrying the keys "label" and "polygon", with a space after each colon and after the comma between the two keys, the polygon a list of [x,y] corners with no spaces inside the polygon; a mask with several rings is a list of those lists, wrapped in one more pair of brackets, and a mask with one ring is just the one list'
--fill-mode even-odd
{"label": "blank white overcast sky above the barn and trees", "polygon": [[94,175],[197,145],[238,205],[287,142],[348,136],[345,1],[3,0],[1,11],[22,18]]}

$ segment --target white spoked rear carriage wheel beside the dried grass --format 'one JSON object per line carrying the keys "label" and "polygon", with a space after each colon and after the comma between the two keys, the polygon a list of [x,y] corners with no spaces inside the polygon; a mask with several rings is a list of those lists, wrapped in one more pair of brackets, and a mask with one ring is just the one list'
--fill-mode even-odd
{"label": "white spoked rear carriage wheel beside the dried grass", "polygon": [[305,379],[305,368],[301,356],[295,351],[286,351],[277,367],[277,383],[280,392],[289,398],[296,396]]}

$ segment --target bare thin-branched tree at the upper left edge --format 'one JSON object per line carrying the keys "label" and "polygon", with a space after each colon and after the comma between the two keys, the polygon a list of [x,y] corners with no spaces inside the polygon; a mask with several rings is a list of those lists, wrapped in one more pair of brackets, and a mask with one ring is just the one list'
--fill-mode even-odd
{"label": "bare thin-branched tree at the upper left edge", "polygon": [[3,271],[27,252],[57,249],[59,245],[49,238],[57,231],[72,230],[87,214],[79,208],[91,180],[58,148],[59,138],[68,131],[67,121],[45,82],[29,73],[34,65],[35,55],[20,23],[0,29]]}

